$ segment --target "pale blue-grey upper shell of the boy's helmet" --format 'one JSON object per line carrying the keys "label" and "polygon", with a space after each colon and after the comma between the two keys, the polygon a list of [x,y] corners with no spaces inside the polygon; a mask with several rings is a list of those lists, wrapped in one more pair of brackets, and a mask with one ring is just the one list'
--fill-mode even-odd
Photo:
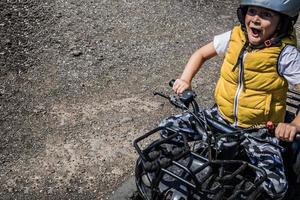
{"label": "pale blue-grey upper shell of the boy's helmet", "polygon": [[292,18],[300,12],[300,0],[240,0],[240,6],[259,6]]}

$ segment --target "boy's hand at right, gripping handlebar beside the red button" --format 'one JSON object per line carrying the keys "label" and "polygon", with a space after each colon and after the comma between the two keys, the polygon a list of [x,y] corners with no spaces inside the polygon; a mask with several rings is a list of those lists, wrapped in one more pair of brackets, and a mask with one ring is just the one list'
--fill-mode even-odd
{"label": "boy's hand at right, gripping handlebar beside the red button", "polygon": [[275,129],[275,136],[283,141],[292,142],[297,133],[297,126],[289,123],[279,123]]}

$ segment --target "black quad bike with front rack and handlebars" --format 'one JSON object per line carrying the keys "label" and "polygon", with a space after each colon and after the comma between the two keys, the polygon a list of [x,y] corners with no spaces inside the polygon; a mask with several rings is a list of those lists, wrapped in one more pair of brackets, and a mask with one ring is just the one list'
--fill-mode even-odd
{"label": "black quad bike with front rack and handlebars", "polygon": [[[170,82],[170,86],[174,80]],[[134,141],[139,154],[135,169],[137,194],[142,200],[254,200],[268,199],[262,189],[266,172],[248,162],[240,141],[252,133],[271,134],[274,127],[233,128],[220,123],[201,109],[196,94],[187,90],[182,96],[155,93],[193,116],[193,128],[159,126]],[[286,121],[300,110],[300,93],[289,90]],[[191,109],[189,109],[191,107]],[[300,139],[299,133],[296,140]],[[150,144],[149,144],[150,143]],[[288,144],[286,144],[288,148]],[[288,155],[288,154],[287,154]],[[290,154],[289,154],[290,155]],[[291,157],[291,156],[286,156]],[[287,159],[291,168],[295,159]],[[295,174],[289,187],[295,187]],[[295,191],[295,190],[293,190]],[[285,199],[296,199],[288,191]],[[269,198],[270,199],[270,198]]]}

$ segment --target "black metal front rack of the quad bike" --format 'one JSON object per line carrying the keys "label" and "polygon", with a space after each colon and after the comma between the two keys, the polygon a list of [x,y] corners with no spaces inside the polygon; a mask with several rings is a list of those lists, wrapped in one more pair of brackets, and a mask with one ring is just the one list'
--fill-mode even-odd
{"label": "black metal front rack of the quad bike", "polygon": [[[142,150],[138,143],[168,131]],[[209,160],[207,144],[191,149],[186,131],[158,127],[134,141],[140,155],[136,183],[144,199],[251,199],[261,190],[264,170],[241,160]],[[210,147],[215,148],[215,147]],[[207,152],[207,151],[206,151]]]}

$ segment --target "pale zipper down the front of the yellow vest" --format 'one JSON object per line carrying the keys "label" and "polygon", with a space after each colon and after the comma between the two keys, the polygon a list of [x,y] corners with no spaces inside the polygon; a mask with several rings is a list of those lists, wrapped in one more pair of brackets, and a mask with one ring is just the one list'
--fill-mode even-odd
{"label": "pale zipper down the front of the yellow vest", "polygon": [[238,59],[238,65],[239,65],[239,77],[238,77],[238,88],[236,90],[235,96],[234,96],[234,102],[233,102],[233,126],[238,125],[238,104],[239,104],[239,96],[241,94],[241,91],[244,87],[244,60],[247,53],[244,53],[246,50],[247,45],[244,45],[244,47],[241,50],[241,53],[239,55]]}

